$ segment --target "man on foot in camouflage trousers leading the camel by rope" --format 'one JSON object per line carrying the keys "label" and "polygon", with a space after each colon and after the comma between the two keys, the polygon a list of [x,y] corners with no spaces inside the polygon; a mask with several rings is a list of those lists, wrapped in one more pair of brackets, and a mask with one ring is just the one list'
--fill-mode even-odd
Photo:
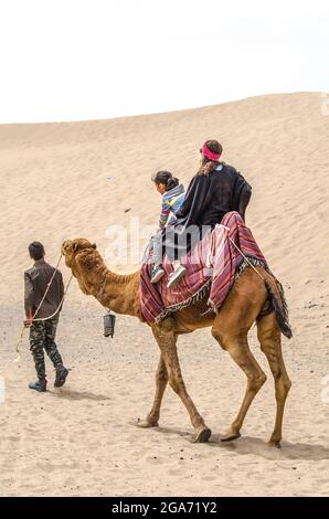
{"label": "man on foot in camouflage trousers leading the camel by rope", "polygon": [[[43,350],[56,369],[55,388],[61,388],[68,374],[55,343],[64,285],[61,272],[55,272],[55,268],[44,261],[45,252],[42,243],[31,243],[29,253],[34,265],[24,273],[25,326],[30,328],[30,349],[38,374],[38,381],[31,382],[29,388],[44,392],[46,391],[46,375]],[[55,313],[56,315],[53,316]],[[34,321],[33,318],[42,320]]]}

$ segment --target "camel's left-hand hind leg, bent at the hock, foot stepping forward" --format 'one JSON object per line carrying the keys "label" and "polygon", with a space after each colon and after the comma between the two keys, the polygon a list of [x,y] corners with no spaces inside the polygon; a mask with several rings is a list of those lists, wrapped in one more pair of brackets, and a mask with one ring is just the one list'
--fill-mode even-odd
{"label": "camel's left-hand hind leg, bent at the hock, foot stepping forward", "polygon": [[266,375],[250,350],[247,343],[247,332],[223,332],[216,325],[217,324],[215,321],[212,328],[213,337],[220,342],[222,348],[231,354],[232,359],[244,371],[247,378],[246,392],[237,416],[232,423],[227,433],[221,437],[222,442],[230,442],[241,436],[240,430],[244,422],[245,415],[257,392],[266,381]]}

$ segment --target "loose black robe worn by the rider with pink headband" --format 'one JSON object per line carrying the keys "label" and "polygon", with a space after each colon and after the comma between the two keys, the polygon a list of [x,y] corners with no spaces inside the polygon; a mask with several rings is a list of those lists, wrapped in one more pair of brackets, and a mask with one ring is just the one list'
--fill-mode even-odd
{"label": "loose black robe worn by the rider with pink headband", "polygon": [[[194,246],[202,237],[201,227],[214,227],[224,214],[237,211],[245,219],[252,188],[232,166],[224,162],[221,166],[221,170],[209,176],[199,172],[192,178],[185,200],[176,213],[177,222],[163,230],[163,245],[171,261]],[[192,237],[188,233],[191,226],[194,226]]]}

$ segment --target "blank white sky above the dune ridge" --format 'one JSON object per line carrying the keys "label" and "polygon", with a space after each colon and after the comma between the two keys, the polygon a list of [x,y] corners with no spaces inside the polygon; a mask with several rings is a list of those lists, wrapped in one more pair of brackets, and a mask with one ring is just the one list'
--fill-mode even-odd
{"label": "blank white sky above the dune ridge", "polygon": [[329,91],[328,0],[1,0],[0,123]]}

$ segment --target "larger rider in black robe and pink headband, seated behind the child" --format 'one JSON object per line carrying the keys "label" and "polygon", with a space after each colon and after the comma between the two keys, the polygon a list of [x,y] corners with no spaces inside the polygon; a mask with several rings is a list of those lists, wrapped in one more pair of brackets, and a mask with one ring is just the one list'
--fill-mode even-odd
{"label": "larger rider in black robe and pink headband, seated behind the child", "polygon": [[169,288],[185,275],[185,268],[178,261],[203,236],[204,227],[213,229],[231,211],[237,211],[243,220],[245,218],[252,188],[235,168],[220,160],[222,151],[216,140],[204,142],[200,149],[200,169],[176,213],[177,221],[163,230],[166,254],[176,265],[170,275]]}

